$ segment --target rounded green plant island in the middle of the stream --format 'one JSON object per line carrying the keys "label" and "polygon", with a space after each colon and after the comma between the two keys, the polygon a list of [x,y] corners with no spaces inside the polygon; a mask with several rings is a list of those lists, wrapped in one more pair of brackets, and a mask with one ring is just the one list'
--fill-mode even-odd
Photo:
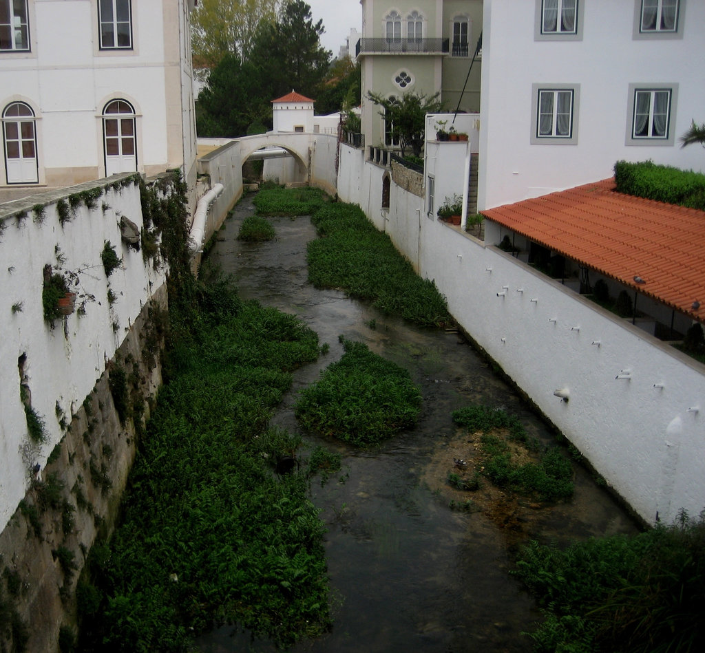
{"label": "rounded green plant island in the middle of the stream", "polygon": [[409,373],[362,342],[341,342],[343,357],[302,390],[294,406],[302,425],[356,447],[415,425],[421,393]]}

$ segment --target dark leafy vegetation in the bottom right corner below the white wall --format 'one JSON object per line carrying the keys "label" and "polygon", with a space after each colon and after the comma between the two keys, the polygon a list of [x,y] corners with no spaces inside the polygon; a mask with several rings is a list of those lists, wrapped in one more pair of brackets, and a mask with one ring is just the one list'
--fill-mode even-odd
{"label": "dark leafy vegetation in the bottom right corner below the white wall", "polygon": [[705,518],[635,537],[532,542],[515,572],[544,607],[537,652],[694,652],[705,645]]}

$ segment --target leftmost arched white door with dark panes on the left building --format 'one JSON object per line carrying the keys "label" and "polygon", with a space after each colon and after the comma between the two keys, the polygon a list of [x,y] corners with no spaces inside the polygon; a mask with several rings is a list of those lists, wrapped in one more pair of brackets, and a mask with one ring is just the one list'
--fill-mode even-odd
{"label": "leftmost arched white door with dark panes on the left building", "polygon": [[24,102],[13,102],[5,107],[2,123],[8,184],[36,184],[39,175],[34,111]]}

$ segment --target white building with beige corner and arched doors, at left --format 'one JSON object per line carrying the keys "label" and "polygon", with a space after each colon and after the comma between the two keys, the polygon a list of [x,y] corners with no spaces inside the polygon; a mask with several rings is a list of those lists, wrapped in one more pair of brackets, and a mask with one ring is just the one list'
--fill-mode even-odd
{"label": "white building with beige corner and arched doors, at left", "polygon": [[0,0],[0,187],[182,168],[196,0]]}

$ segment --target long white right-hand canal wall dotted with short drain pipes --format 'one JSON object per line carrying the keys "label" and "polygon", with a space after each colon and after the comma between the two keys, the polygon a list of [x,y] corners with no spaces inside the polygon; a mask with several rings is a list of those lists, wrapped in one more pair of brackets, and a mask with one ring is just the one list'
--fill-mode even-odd
{"label": "long white right-hand canal wall dotted with short drain pipes", "polygon": [[[356,201],[359,180],[357,204],[370,220],[436,282],[462,328],[615,492],[649,523],[657,513],[672,521],[681,508],[699,514],[705,366],[496,247],[417,213],[419,198],[402,189],[392,186],[390,210],[381,213],[383,173],[341,145],[341,199]],[[615,379],[623,370],[630,380]],[[567,403],[553,395],[563,387]]]}

